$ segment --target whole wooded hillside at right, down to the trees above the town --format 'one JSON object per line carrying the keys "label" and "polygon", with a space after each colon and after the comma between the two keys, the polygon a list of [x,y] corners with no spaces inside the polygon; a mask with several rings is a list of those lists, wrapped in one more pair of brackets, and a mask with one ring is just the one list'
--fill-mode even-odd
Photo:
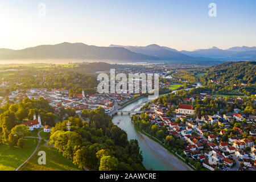
{"label": "whole wooded hillside at right, down to the trees above the town", "polygon": [[[228,62],[210,67],[201,79],[208,80],[207,86],[217,94],[250,96],[256,93],[255,70],[256,61]],[[220,84],[213,85],[210,80],[217,80]]]}

